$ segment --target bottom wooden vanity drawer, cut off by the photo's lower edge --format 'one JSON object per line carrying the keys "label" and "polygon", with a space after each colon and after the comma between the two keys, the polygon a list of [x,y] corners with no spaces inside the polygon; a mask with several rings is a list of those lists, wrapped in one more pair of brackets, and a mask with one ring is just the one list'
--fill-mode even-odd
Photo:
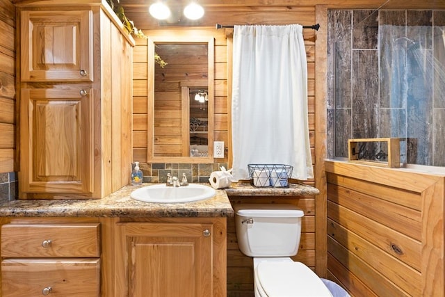
{"label": "bottom wooden vanity drawer, cut off by the photo's lower edge", "polygon": [[99,279],[99,259],[6,259],[1,262],[3,297],[42,296],[44,293],[49,293],[48,296],[99,296]]}

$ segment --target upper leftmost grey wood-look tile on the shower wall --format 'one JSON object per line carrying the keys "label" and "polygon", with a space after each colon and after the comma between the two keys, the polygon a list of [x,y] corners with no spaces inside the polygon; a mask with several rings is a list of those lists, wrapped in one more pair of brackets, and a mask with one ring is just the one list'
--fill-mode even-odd
{"label": "upper leftmost grey wood-look tile on the shower wall", "polygon": [[328,13],[327,107],[350,107],[352,10]]}

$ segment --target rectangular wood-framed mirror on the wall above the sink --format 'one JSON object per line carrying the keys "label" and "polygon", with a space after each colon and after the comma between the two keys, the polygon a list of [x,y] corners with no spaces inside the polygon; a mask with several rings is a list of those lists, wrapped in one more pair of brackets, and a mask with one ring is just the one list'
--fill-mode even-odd
{"label": "rectangular wood-framed mirror on the wall above the sink", "polygon": [[[147,160],[213,162],[213,38],[148,38]],[[161,62],[162,61],[162,62]]]}

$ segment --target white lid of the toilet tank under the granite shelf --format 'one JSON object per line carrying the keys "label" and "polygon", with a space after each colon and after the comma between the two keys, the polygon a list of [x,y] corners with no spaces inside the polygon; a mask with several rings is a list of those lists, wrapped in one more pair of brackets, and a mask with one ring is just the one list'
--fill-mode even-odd
{"label": "white lid of the toilet tank under the granite shelf", "polygon": [[238,216],[267,218],[300,218],[305,213],[293,204],[235,204],[235,214]]}

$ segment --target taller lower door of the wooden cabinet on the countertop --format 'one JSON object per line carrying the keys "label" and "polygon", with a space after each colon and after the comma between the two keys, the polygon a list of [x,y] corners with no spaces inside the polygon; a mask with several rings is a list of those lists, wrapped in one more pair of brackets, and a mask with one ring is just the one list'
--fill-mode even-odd
{"label": "taller lower door of the wooden cabinet on the countertop", "polygon": [[92,193],[90,89],[21,91],[22,193]]}

